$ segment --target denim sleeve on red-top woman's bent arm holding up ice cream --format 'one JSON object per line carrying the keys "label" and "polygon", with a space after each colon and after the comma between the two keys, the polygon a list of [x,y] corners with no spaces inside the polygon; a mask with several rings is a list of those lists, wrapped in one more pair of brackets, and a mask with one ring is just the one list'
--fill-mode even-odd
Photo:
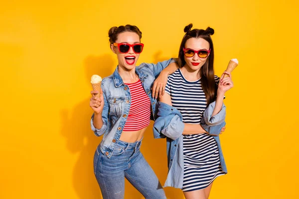
{"label": "denim sleeve on red-top woman's bent arm holding up ice cream", "polygon": [[95,115],[94,113],[92,114],[91,120],[90,120],[91,129],[94,131],[96,136],[103,135],[108,128],[109,103],[108,103],[108,100],[106,97],[106,92],[104,90],[104,81],[102,81],[101,89],[103,91],[103,97],[104,97],[104,108],[103,108],[103,112],[102,112],[103,126],[100,129],[97,129],[94,126],[94,124],[93,124],[93,119],[94,119],[94,115]]}

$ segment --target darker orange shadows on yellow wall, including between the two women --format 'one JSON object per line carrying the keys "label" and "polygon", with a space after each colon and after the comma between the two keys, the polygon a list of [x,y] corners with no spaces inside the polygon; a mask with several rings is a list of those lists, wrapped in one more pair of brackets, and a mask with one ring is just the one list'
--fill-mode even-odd
{"label": "darker orange shadows on yellow wall, including between the two women", "polygon": [[[169,58],[161,58],[161,51],[154,54],[154,63]],[[107,77],[113,73],[116,63],[111,55],[88,56],[84,60],[86,79],[98,74]],[[90,91],[91,91],[90,87]],[[61,110],[61,134],[66,137],[67,149],[71,153],[78,153],[79,157],[73,169],[73,186],[80,199],[102,198],[100,188],[93,172],[93,157],[96,147],[101,142],[102,136],[97,137],[90,129],[92,109],[89,107],[90,91],[86,91],[86,100],[79,102],[72,110]],[[154,139],[152,135],[152,122],[150,123],[143,146],[141,148],[149,165],[152,167],[160,183],[163,185],[167,176],[166,140]],[[168,199],[182,199],[181,190],[165,188]],[[125,180],[125,199],[142,199],[143,196]]]}

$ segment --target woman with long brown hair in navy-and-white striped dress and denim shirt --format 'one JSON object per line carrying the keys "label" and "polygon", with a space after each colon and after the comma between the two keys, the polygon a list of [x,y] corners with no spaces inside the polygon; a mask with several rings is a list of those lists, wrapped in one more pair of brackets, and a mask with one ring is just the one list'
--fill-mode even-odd
{"label": "woman with long brown hair in navy-and-white striped dress and denim shirt", "polygon": [[[186,199],[208,199],[213,181],[227,173],[219,134],[225,129],[224,94],[233,87],[231,75],[214,76],[214,30],[184,28],[177,69],[168,76],[159,98],[154,133],[167,136],[168,176],[165,187],[182,189]],[[229,77],[224,78],[227,74]],[[203,119],[209,110],[213,124]],[[217,125],[216,125],[217,124]],[[155,136],[156,138],[161,135]]]}

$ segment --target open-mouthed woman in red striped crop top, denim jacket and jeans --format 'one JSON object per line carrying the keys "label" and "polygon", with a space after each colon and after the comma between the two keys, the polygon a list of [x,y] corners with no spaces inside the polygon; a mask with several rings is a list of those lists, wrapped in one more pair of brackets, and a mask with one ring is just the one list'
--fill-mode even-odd
{"label": "open-mouthed woman in red striped crop top, denim jacket and jeans", "polygon": [[[91,92],[91,127],[95,135],[104,135],[94,155],[94,174],[104,199],[124,198],[125,178],[146,199],[166,199],[140,147],[156,110],[157,95],[162,95],[167,75],[178,66],[173,59],[136,66],[144,47],[141,37],[134,25],[109,30],[118,67],[102,80],[100,97],[95,97],[99,92]],[[160,83],[153,84],[158,76]]]}

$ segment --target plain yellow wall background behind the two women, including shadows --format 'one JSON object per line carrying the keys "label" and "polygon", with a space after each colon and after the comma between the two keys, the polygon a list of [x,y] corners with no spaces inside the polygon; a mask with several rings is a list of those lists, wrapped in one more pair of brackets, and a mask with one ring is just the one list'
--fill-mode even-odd
{"label": "plain yellow wall background behind the two women, including shadows", "polygon": [[[108,30],[137,25],[139,64],[177,56],[183,28],[210,26],[218,76],[232,58],[221,143],[228,175],[210,199],[297,199],[299,3],[296,0],[11,0],[0,6],[0,198],[98,199],[90,77],[117,58]],[[161,183],[165,140],[152,123],[142,152]],[[166,188],[168,199],[182,192]],[[128,182],[126,199],[142,199]]]}

